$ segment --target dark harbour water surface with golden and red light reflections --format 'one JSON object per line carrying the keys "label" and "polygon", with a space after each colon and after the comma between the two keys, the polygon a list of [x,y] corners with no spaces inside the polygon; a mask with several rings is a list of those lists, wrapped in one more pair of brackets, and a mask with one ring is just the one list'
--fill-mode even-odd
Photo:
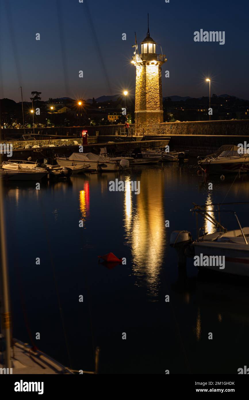
{"label": "dark harbour water surface with golden and red light reflections", "polygon": [[[140,194],[110,192],[115,178],[140,181]],[[79,175],[40,190],[5,186],[13,336],[76,370],[94,369],[97,345],[100,373],[237,374],[249,366],[249,283],[198,275],[193,259],[179,272],[169,247],[172,230],[195,237],[192,202],[248,200],[248,177],[234,178],[205,181],[189,162]],[[233,208],[249,226],[248,206]],[[227,214],[223,224],[237,228]],[[108,252],[127,264],[98,263]]]}

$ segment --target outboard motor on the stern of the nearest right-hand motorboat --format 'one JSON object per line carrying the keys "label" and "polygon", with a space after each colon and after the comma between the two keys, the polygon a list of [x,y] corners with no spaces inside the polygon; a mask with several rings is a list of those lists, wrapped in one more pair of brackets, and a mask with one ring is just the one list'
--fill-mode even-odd
{"label": "outboard motor on the stern of the nearest right-hand motorboat", "polygon": [[174,247],[178,254],[178,266],[185,267],[187,262],[187,249],[193,242],[191,233],[187,230],[173,230],[170,235],[169,245]]}

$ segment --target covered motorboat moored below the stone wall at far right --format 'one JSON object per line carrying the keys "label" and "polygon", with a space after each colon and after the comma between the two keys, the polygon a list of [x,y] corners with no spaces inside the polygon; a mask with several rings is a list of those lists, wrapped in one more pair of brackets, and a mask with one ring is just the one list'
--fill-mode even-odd
{"label": "covered motorboat moored below the stone wall at far right", "polygon": [[239,150],[241,149],[238,146],[225,144],[215,153],[203,159],[198,157],[199,167],[207,174],[248,172],[249,155],[247,154],[247,149],[244,149],[244,154],[240,154]]}

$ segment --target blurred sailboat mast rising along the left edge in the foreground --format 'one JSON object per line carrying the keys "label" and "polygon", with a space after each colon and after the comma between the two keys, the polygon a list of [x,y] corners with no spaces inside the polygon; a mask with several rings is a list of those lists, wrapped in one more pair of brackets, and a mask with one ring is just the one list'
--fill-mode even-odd
{"label": "blurred sailboat mast rising along the left edge in the foreground", "polygon": [[[0,156],[0,163],[2,157]],[[8,268],[7,268],[7,254],[6,254],[6,233],[5,233],[5,215],[4,215],[4,201],[2,190],[2,179],[0,178],[0,283],[1,283],[1,319],[3,334],[6,341],[5,350],[5,366],[11,368],[10,361],[10,302],[9,302],[9,284],[8,284]]]}

